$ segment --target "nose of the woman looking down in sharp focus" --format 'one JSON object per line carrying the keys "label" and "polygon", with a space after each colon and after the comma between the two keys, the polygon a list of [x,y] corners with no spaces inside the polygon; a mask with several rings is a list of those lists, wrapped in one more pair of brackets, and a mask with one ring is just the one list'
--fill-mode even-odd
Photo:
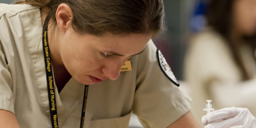
{"label": "nose of the woman looking down in sharp focus", "polygon": [[109,63],[102,67],[102,72],[111,80],[116,80],[120,75],[121,64]]}

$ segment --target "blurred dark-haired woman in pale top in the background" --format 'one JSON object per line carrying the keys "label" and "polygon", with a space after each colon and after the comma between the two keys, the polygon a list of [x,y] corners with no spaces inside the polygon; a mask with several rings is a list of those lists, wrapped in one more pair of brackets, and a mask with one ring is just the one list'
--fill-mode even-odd
{"label": "blurred dark-haired woman in pale top in the background", "polygon": [[191,40],[185,60],[185,79],[191,89],[196,118],[207,99],[212,108],[248,108],[256,114],[256,1],[212,0],[208,27]]}

